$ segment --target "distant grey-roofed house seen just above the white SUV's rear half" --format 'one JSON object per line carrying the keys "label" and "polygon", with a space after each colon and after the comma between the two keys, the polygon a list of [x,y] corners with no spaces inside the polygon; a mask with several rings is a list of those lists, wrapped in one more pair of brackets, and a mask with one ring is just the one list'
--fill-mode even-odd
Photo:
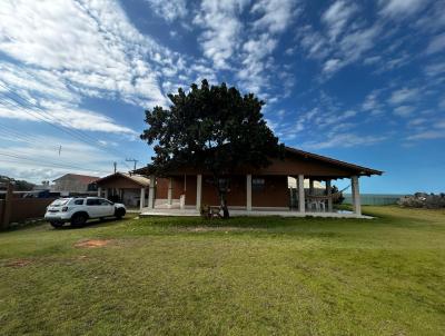
{"label": "distant grey-roofed house seen just above the white SUV's rear half", "polygon": [[97,176],[66,174],[53,180],[51,191],[59,191],[62,196],[70,194],[96,194],[97,186],[95,181],[99,179]]}

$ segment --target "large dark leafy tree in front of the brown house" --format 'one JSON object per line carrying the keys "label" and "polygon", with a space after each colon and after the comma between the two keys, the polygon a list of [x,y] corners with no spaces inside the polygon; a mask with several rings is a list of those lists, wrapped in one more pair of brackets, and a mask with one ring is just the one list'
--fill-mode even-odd
{"label": "large dark leafy tree in front of the brown house", "polygon": [[224,217],[228,217],[227,177],[240,168],[261,168],[283,152],[283,145],[263,118],[264,101],[226,83],[190,86],[168,95],[169,109],[146,111],[148,129],[140,136],[155,144],[151,169],[158,176],[194,167],[212,176]]}

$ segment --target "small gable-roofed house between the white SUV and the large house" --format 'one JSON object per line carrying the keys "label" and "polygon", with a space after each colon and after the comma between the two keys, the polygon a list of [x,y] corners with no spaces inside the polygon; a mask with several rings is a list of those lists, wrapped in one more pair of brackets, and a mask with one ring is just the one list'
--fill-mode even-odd
{"label": "small gable-roofed house between the white SUV and the large house", "polygon": [[108,198],[112,201],[123,202],[128,207],[140,207],[147,202],[146,189],[150,180],[140,175],[115,172],[96,180],[99,197]]}

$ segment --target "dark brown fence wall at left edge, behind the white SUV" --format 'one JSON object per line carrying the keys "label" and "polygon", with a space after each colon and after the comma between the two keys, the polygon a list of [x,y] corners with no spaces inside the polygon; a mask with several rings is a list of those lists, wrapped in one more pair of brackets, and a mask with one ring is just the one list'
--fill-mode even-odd
{"label": "dark brown fence wall at left edge, behind the white SUV", "polygon": [[56,198],[14,198],[9,187],[6,199],[0,200],[0,228],[8,228],[11,223],[31,218],[41,218],[47,207]]}

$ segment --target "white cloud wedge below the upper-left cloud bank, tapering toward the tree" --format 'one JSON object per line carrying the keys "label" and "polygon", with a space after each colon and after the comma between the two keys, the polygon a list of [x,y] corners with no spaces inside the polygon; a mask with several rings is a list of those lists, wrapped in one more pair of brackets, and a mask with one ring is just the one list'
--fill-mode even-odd
{"label": "white cloud wedge below the upper-left cloud bank, tapering toward the tree", "polygon": [[41,119],[69,128],[91,131],[136,132],[111,118],[78,107],[80,97],[53,72],[27,70],[0,61],[0,118],[43,122]]}

